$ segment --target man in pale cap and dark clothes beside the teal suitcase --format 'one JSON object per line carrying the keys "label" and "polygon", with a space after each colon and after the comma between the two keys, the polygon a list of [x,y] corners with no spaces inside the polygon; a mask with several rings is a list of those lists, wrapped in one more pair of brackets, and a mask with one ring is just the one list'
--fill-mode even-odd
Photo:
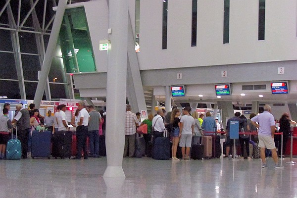
{"label": "man in pale cap and dark clothes beside the teal suitcase", "polygon": [[28,138],[30,133],[30,114],[22,104],[16,105],[17,115],[13,118],[12,124],[16,123],[17,134],[22,145],[22,157],[27,159]]}

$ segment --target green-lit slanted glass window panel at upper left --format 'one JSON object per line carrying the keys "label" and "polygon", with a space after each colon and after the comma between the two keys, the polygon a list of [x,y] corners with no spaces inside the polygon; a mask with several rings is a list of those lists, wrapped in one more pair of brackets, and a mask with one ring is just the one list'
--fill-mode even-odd
{"label": "green-lit slanted glass window panel at upper left", "polygon": [[84,7],[65,10],[59,38],[67,73],[97,71]]}

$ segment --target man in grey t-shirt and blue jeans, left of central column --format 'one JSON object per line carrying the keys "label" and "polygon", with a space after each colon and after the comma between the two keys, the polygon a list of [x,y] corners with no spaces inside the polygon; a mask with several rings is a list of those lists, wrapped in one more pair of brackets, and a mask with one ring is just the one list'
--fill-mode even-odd
{"label": "man in grey t-shirt and blue jeans, left of central column", "polygon": [[102,122],[101,115],[97,112],[93,105],[89,106],[89,125],[88,133],[90,140],[90,157],[99,157],[99,124]]}

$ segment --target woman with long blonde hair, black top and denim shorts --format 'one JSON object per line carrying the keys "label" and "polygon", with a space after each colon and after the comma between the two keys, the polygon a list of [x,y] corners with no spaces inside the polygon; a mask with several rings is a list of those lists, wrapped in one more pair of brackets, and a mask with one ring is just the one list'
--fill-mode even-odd
{"label": "woman with long blonde hair, black top and denim shorts", "polygon": [[171,118],[170,118],[170,123],[173,126],[173,131],[172,131],[172,160],[179,160],[176,157],[176,151],[177,151],[177,146],[179,143],[179,132],[180,132],[180,119],[179,116],[181,115],[181,111],[178,108],[175,108],[172,110],[171,113]]}

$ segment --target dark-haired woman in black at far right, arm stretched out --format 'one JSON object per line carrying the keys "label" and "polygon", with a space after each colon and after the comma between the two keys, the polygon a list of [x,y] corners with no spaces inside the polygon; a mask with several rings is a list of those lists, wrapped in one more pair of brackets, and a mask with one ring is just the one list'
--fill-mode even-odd
{"label": "dark-haired woman in black at far right, arm stretched out", "polygon": [[[283,153],[286,152],[287,141],[291,133],[291,124],[296,124],[296,122],[289,118],[289,113],[284,113],[279,120],[279,126],[280,126],[279,132],[283,132]],[[281,154],[281,142],[279,143],[279,146],[278,146],[278,153],[279,155]]]}

